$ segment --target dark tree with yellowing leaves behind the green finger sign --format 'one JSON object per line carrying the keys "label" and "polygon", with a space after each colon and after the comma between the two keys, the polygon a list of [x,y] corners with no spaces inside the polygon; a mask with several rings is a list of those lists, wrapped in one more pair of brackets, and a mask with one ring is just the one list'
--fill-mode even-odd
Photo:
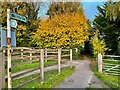
{"label": "dark tree with yellowing leaves behind the green finger sign", "polygon": [[33,2],[1,2],[1,6],[2,27],[7,26],[7,8],[9,8],[12,13],[16,13],[27,18],[26,23],[17,20],[17,46],[32,46],[32,32],[36,31],[36,28],[38,28],[39,23],[39,20],[37,19],[39,4]]}

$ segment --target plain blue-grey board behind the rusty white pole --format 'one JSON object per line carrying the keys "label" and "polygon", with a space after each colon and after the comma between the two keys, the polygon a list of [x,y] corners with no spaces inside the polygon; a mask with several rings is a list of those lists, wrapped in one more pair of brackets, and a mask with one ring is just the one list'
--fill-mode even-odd
{"label": "plain blue-grey board behind the rusty white pole", "polygon": [[[1,48],[7,47],[7,29],[2,28],[1,32]],[[16,30],[11,30],[11,47],[16,47]]]}

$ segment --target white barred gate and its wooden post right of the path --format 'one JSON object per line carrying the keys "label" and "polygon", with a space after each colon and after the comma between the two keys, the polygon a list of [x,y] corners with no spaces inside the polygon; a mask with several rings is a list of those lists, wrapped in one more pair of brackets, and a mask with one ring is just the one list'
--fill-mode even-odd
{"label": "white barred gate and its wooden post right of the path", "polygon": [[120,56],[98,54],[98,71],[120,76]]}

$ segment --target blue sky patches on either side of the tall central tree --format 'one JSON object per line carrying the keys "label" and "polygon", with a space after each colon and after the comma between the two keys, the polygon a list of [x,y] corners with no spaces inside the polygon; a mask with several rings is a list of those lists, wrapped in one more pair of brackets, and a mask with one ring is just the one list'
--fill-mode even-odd
{"label": "blue sky patches on either side of the tall central tree", "polygon": [[[82,2],[83,9],[85,12],[85,16],[93,21],[95,18],[95,15],[98,14],[97,6],[102,6],[104,2]],[[40,16],[42,19],[47,18],[48,16],[45,15],[47,13],[47,10],[49,9],[50,3],[45,3],[40,7],[38,16]]]}

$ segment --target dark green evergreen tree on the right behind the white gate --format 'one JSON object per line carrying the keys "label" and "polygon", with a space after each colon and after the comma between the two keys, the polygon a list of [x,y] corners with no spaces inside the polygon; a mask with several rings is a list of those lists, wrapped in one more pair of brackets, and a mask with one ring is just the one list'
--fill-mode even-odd
{"label": "dark green evergreen tree on the right behind the white gate", "polygon": [[107,48],[109,48],[107,54],[119,54],[120,20],[110,20],[110,17],[106,17],[106,9],[109,3],[103,7],[98,6],[99,15],[96,16],[93,24],[94,28],[100,31]]}

